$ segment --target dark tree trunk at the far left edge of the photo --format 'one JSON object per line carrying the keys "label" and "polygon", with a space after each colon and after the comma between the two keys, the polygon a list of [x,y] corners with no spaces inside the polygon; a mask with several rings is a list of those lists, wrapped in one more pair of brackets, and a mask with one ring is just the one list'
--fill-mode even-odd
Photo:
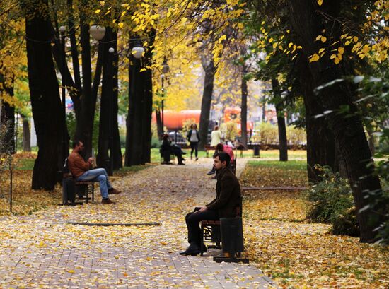
{"label": "dark tree trunk at the far left edge of the photo", "polygon": [[[7,85],[8,81],[5,81],[4,76],[0,74],[0,95],[6,93],[13,97],[13,81],[12,86]],[[0,153],[15,153],[15,107],[9,105],[7,102],[2,102],[0,107],[1,124],[6,125],[6,134],[4,143],[1,143]]]}

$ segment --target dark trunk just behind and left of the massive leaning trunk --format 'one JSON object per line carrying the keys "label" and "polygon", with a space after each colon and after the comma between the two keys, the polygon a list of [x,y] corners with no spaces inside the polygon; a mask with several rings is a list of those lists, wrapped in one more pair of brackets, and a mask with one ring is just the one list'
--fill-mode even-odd
{"label": "dark trunk just behind and left of the massive leaning trunk", "polygon": [[321,172],[315,165],[327,165],[337,171],[335,137],[328,128],[326,117],[316,117],[323,114],[323,108],[318,96],[313,93],[315,87],[306,59],[299,57],[296,67],[306,109],[308,181],[315,183],[321,180]]}

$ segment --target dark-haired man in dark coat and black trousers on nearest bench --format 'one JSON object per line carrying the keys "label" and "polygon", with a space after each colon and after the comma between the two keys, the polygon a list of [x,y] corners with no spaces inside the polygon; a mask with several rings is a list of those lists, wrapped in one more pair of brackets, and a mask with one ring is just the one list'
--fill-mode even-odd
{"label": "dark-haired man in dark coat and black trousers on nearest bench", "polygon": [[216,182],[216,199],[203,208],[199,208],[185,217],[187,223],[188,242],[190,246],[180,255],[196,256],[206,252],[207,248],[200,247],[202,231],[199,223],[202,220],[219,220],[219,218],[233,218],[236,216],[236,207],[240,204],[240,185],[236,176],[228,168],[230,156],[228,153],[214,155],[214,167],[218,171]]}

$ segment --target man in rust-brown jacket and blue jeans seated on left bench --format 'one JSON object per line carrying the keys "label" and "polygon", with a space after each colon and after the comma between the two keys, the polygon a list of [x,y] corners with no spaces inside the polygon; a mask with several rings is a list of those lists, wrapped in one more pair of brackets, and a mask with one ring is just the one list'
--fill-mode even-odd
{"label": "man in rust-brown jacket and blue jeans seated on left bench", "polygon": [[101,203],[114,204],[115,202],[108,198],[108,194],[120,194],[121,191],[112,187],[105,169],[90,170],[94,159],[89,158],[85,162],[80,155],[81,151],[83,151],[83,143],[81,141],[74,141],[73,151],[71,151],[71,154],[67,158],[71,175],[78,182],[100,182],[100,192],[103,197]]}

